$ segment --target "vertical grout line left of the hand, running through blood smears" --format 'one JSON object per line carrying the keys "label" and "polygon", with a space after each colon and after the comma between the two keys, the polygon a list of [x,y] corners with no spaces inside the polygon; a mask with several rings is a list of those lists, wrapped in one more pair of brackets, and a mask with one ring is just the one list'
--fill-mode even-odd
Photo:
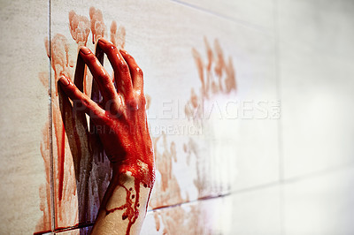
{"label": "vertical grout line left of the hand, running through blood smears", "polygon": [[51,101],[51,2],[48,0],[48,42],[49,42],[49,53],[50,53],[50,64],[49,64],[49,95],[50,95],[50,216],[51,216],[51,231],[55,231],[55,201],[54,201],[54,159],[53,159],[53,117],[52,117],[52,101]]}

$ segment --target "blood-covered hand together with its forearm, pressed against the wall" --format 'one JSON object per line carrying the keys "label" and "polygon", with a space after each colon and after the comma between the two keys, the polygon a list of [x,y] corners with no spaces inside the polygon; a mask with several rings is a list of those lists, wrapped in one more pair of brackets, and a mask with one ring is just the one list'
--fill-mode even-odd
{"label": "blood-covered hand together with its forearm, pressed against the wall", "polygon": [[65,95],[80,104],[100,130],[104,151],[112,163],[111,183],[92,234],[138,234],[155,181],[142,70],[127,51],[117,49],[111,42],[100,39],[97,49],[112,64],[114,81],[86,47],[80,49],[77,67],[85,64],[89,67],[103,96],[102,102],[92,101],[69,78],[59,79]]}

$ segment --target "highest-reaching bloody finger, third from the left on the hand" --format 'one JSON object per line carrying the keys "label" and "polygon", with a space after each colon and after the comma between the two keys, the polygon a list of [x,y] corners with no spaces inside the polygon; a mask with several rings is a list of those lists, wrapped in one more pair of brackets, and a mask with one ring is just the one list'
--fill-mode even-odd
{"label": "highest-reaching bloody finger, third from the left on the hand", "polygon": [[124,97],[129,97],[133,92],[132,79],[129,67],[120,54],[119,49],[105,39],[100,39],[97,44],[104,51],[112,64],[118,92]]}

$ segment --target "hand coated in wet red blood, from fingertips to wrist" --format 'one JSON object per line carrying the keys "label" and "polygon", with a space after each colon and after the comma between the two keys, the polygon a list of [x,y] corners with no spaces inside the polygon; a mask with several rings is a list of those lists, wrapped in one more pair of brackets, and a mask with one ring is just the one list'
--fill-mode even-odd
{"label": "hand coated in wet red blood, from fingertips to wrist", "polygon": [[127,51],[117,49],[104,39],[97,42],[97,52],[97,55],[107,55],[114,71],[114,80],[86,47],[80,49],[75,80],[78,68],[84,68],[87,64],[101,92],[102,101],[91,100],[81,92],[82,87],[78,86],[79,89],[65,76],[60,78],[60,85],[73,101],[73,107],[80,105],[81,110],[89,115],[112,162],[113,171],[130,171],[144,186],[152,187],[154,156],[145,112],[142,70]]}

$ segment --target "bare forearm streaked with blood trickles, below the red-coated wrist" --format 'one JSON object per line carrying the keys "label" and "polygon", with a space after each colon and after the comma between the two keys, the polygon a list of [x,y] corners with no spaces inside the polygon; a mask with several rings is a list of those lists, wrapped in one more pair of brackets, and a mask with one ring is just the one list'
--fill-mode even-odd
{"label": "bare forearm streaked with blood trickles, below the red-coated wrist", "polygon": [[130,171],[113,171],[92,234],[139,234],[150,190]]}

